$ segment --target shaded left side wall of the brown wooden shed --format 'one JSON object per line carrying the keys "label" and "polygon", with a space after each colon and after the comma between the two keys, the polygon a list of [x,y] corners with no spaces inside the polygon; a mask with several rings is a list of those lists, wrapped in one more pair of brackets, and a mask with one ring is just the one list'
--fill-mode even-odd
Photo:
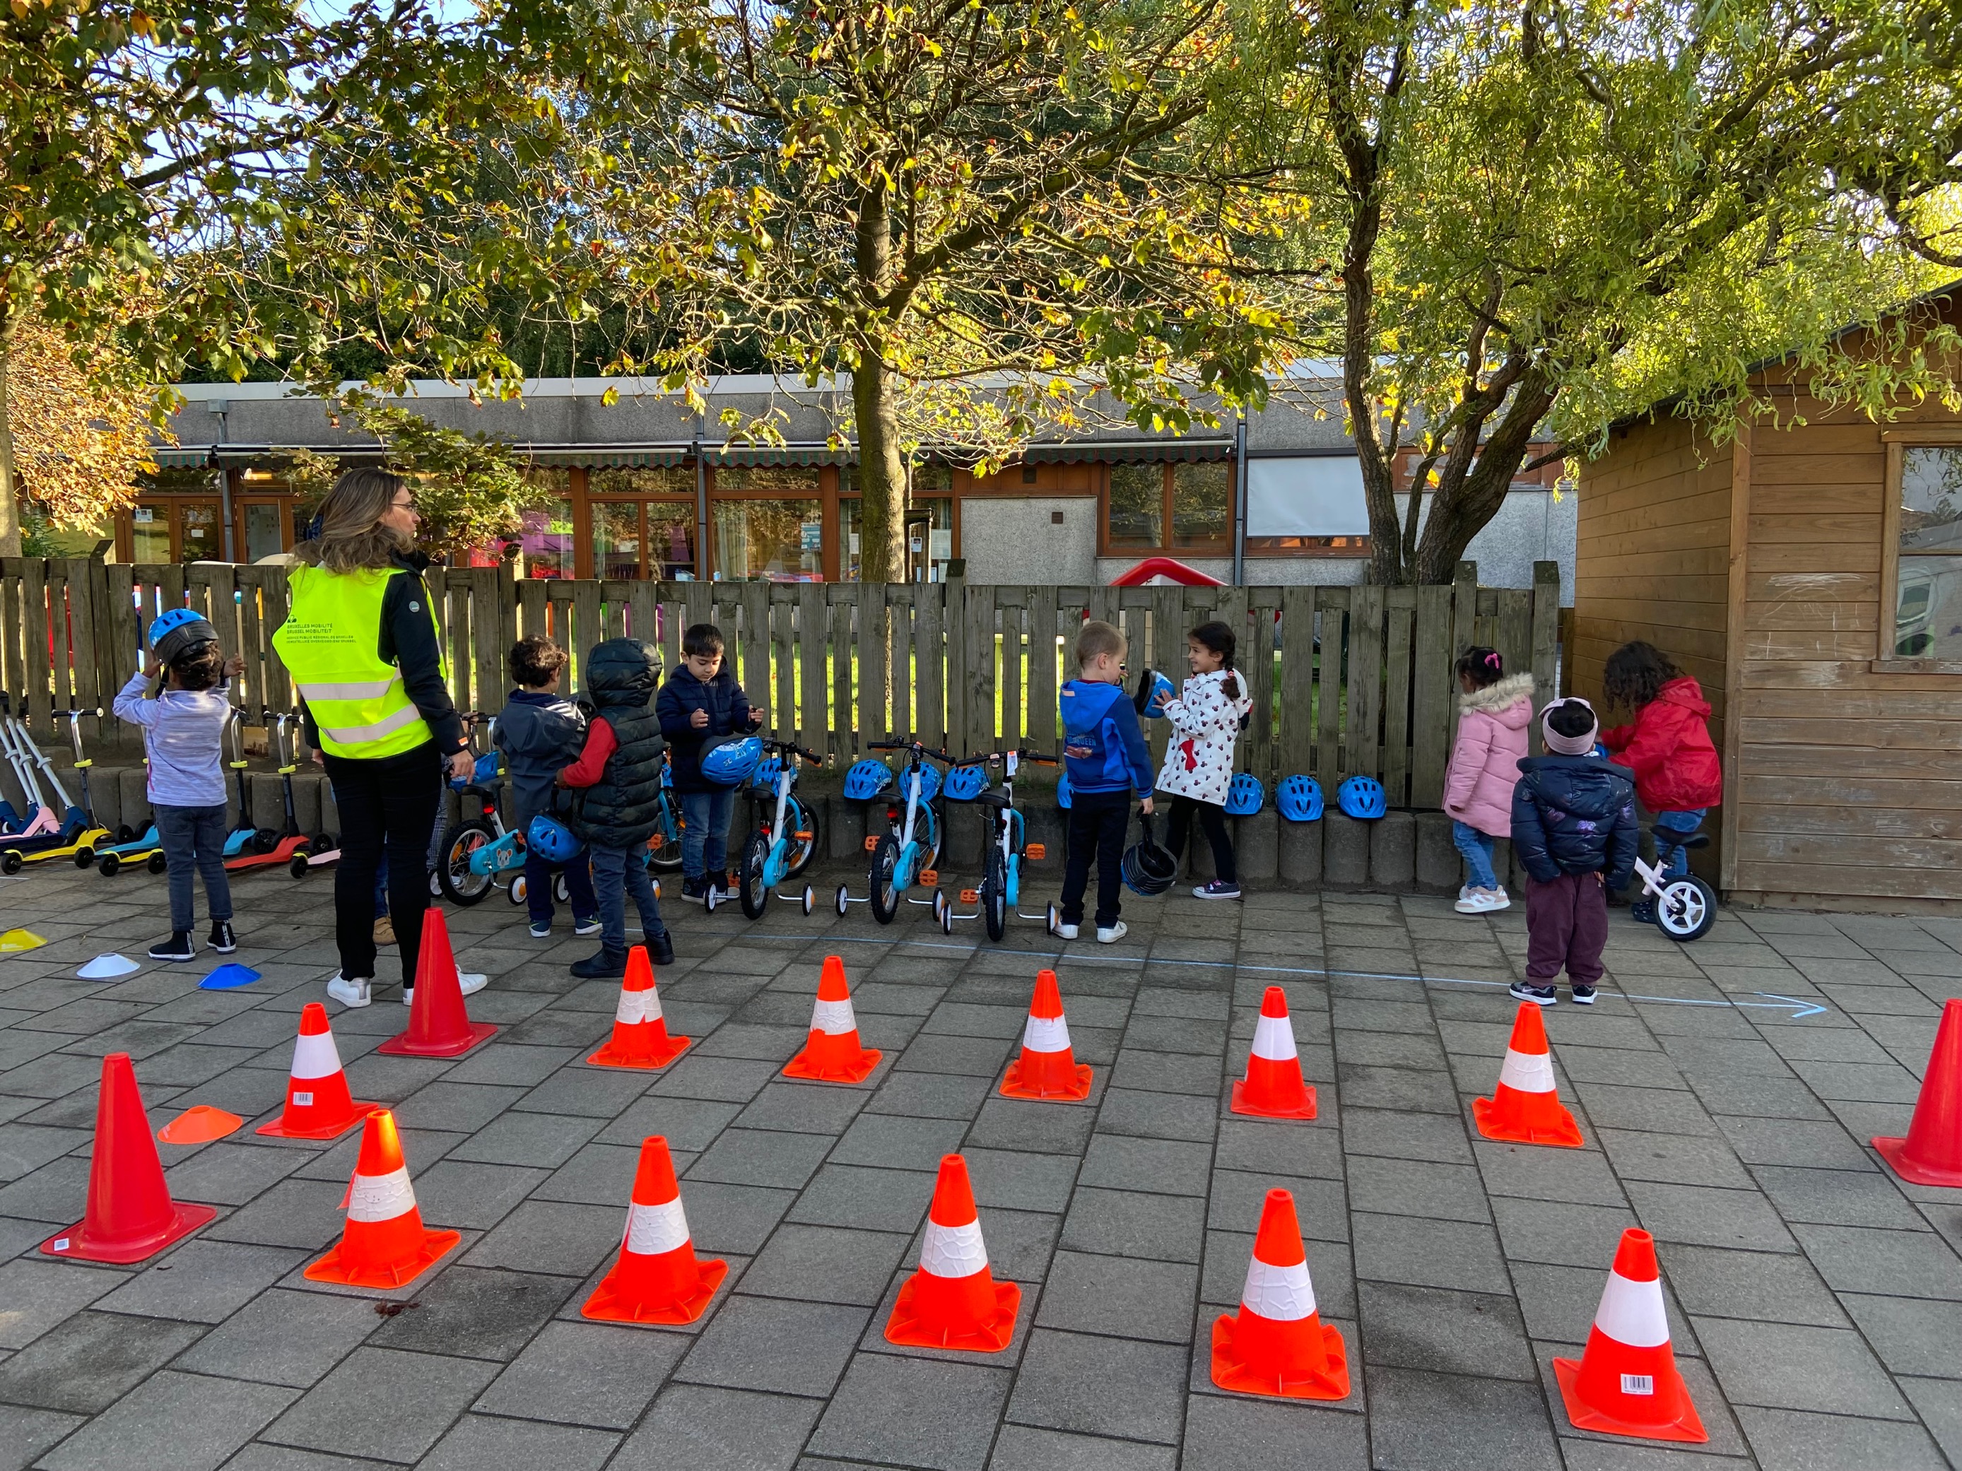
{"label": "shaded left side wall of the brown wooden shed", "polygon": [[[1566,688],[1607,710],[1601,667],[1628,639],[1648,639],[1703,686],[1711,736],[1725,720],[1732,449],[1693,435],[1681,420],[1617,431],[1609,453],[1581,471],[1574,571],[1574,643]],[[1717,877],[1713,847],[1695,869]]]}

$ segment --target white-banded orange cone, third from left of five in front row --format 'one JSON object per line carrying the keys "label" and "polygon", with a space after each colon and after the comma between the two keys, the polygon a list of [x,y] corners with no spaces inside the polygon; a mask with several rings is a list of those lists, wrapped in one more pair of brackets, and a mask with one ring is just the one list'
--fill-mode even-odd
{"label": "white-banded orange cone, third from left of five in front row", "polygon": [[893,1316],[885,1322],[887,1342],[999,1353],[1014,1338],[1020,1308],[1022,1289],[997,1283],[987,1269],[967,1161],[940,1155],[920,1267],[899,1289]]}

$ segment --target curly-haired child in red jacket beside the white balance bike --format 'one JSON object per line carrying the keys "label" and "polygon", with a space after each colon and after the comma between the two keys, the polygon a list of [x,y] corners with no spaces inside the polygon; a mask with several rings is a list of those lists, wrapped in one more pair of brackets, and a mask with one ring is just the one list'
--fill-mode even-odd
{"label": "curly-haired child in red jacket beside the white balance bike", "polygon": [[[1601,686],[1611,704],[1634,710],[1634,724],[1601,732],[1615,761],[1634,771],[1634,794],[1656,814],[1656,863],[1670,877],[1689,873],[1683,839],[1723,800],[1723,769],[1711,743],[1703,688],[1654,643],[1623,643],[1607,657]],[[1644,920],[1648,900],[1632,914]]]}

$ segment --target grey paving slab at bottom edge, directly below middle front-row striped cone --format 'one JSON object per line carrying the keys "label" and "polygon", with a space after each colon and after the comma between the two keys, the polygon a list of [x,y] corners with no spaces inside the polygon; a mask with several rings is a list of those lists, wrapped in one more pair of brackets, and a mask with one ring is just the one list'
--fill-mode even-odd
{"label": "grey paving slab at bottom edge, directly below middle front-row striped cone", "polygon": [[855,1461],[981,1471],[1010,1375],[985,1363],[859,1353],[832,1395],[810,1449]]}

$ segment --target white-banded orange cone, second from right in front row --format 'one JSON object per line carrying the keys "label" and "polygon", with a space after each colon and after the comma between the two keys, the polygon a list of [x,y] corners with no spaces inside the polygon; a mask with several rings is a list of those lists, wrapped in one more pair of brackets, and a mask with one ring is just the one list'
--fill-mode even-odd
{"label": "white-banded orange cone, second from right in front row", "polygon": [[1342,1330],[1322,1324],[1315,1308],[1309,1253],[1287,1191],[1267,1191],[1240,1312],[1213,1320],[1213,1383],[1291,1400],[1348,1396],[1348,1349]]}

